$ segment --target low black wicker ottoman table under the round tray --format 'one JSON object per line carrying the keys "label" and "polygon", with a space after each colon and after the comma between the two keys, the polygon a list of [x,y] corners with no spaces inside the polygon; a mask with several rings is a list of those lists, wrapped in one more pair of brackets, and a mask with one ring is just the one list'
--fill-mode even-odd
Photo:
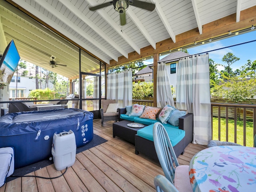
{"label": "low black wicker ottoman table under the round tray", "polygon": [[119,121],[113,123],[113,138],[116,136],[135,144],[135,135],[137,134],[137,130],[142,128],[132,128],[128,127],[127,124],[134,123],[133,121]]}

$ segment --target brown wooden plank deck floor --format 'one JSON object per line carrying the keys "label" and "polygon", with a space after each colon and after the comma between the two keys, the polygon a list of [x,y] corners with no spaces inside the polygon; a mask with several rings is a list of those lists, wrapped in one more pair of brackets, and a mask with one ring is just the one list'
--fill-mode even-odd
{"label": "brown wooden plank deck floor", "polygon": [[[142,154],[136,155],[134,145],[113,138],[112,123],[105,122],[101,126],[101,120],[94,120],[94,133],[108,142],[76,154],[75,164],[64,176],[53,180],[17,178],[4,184],[0,192],[155,191],[154,177],[164,174],[162,168]],[[189,144],[185,153],[179,156],[179,163],[188,165],[194,154],[204,148],[206,146]],[[29,175],[55,177],[60,174],[52,164]]]}

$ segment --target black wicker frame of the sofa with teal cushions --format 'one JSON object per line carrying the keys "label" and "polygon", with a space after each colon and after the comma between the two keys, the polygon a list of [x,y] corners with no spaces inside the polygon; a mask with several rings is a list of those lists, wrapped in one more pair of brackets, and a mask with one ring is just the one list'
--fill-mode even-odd
{"label": "black wicker frame of the sofa with teal cushions", "polygon": [[[126,108],[119,108],[119,111],[118,111],[119,121],[123,120],[122,118],[120,118],[120,115],[125,113],[126,113]],[[188,146],[188,144],[193,140],[193,114],[192,113],[188,113],[185,116],[182,116],[179,118],[179,129],[182,129],[185,131],[185,137],[173,147],[177,157],[180,154],[184,153],[184,149],[186,148],[186,146]],[[154,147],[154,142],[147,140],[145,138],[142,138],[137,134],[135,134],[135,153],[144,154],[147,157],[158,161],[156,150]]]}

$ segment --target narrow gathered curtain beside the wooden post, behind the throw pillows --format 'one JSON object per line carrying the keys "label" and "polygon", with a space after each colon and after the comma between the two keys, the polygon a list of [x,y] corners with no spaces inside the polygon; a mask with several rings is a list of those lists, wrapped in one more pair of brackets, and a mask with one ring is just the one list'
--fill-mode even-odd
{"label": "narrow gathered curtain beside the wooden post, behind the throw pillows", "polygon": [[174,106],[172,90],[165,62],[157,65],[156,75],[156,103],[157,107],[163,108],[166,105]]}

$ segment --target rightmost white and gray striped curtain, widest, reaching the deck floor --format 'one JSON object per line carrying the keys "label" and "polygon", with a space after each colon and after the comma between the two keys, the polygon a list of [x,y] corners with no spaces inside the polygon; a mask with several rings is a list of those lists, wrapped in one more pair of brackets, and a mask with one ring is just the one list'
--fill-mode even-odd
{"label": "rightmost white and gray striped curtain, widest, reaching the deck floor", "polygon": [[194,115],[193,143],[207,145],[212,138],[208,54],[179,60],[176,105]]}

